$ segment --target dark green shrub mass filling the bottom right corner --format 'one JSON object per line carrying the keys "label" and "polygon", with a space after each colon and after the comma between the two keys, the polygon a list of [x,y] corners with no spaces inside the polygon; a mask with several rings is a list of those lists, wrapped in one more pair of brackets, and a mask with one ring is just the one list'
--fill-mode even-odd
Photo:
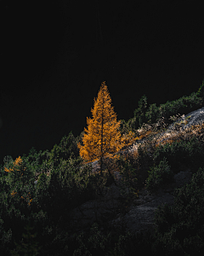
{"label": "dark green shrub mass filling the bottom right corner", "polygon": [[173,207],[158,207],[155,223],[157,252],[203,255],[204,169],[199,168],[189,184],[174,190]]}

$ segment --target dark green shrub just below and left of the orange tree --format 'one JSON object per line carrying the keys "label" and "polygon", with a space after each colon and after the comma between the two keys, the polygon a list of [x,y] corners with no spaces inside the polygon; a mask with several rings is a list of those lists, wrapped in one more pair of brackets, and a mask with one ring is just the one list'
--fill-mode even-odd
{"label": "dark green shrub just below and left of the orange tree", "polygon": [[58,167],[50,172],[48,183],[48,211],[52,211],[56,220],[62,212],[70,212],[88,199],[94,198],[94,182],[99,177],[90,176],[90,166],[84,167],[82,158],[62,160]]}

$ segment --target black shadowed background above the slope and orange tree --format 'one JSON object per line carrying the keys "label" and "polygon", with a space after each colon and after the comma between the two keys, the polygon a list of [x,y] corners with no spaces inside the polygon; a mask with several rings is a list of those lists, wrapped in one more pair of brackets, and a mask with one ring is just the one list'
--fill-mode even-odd
{"label": "black shadowed background above the slope and orange tree", "polygon": [[144,94],[159,105],[204,79],[195,1],[27,2],[0,3],[0,164],[79,135],[103,80],[127,120]]}

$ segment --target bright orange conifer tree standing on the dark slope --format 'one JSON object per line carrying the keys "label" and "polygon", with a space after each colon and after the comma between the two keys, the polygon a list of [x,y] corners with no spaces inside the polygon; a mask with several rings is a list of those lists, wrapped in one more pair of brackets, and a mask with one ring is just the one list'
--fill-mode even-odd
{"label": "bright orange conifer tree standing on the dark slope", "polygon": [[86,161],[99,160],[100,175],[106,156],[112,156],[122,148],[121,122],[116,120],[116,113],[111,106],[111,96],[105,82],[101,83],[94,108],[91,108],[93,118],[87,118],[88,128],[84,128],[82,143],[78,144],[80,155]]}

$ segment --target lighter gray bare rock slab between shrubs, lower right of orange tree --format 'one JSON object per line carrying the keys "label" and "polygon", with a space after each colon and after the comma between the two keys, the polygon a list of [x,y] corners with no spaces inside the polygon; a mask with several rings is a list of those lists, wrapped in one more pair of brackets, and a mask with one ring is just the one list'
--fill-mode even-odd
{"label": "lighter gray bare rock slab between shrubs, lower right of orange tree", "polygon": [[173,191],[181,188],[184,183],[190,183],[192,172],[178,172],[174,175],[174,182],[167,184],[165,189],[158,189],[155,193],[150,193],[147,189],[140,192],[139,200],[133,201],[130,211],[123,218],[116,218],[112,224],[127,225],[127,231],[139,233],[140,231],[154,231],[154,217],[156,208],[160,205],[168,204],[173,206]]}

